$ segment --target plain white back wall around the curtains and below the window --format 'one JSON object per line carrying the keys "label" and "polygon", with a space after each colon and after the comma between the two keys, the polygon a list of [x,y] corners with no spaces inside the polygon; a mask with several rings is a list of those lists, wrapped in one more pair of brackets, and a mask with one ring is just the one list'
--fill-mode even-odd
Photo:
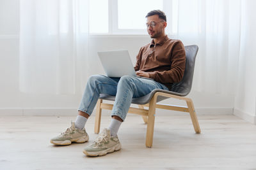
{"label": "plain white back wall around the curtains and below the window", "polygon": [[[13,10],[14,8],[14,10]],[[97,65],[97,51],[127,49],[135,62],[140,46],[150,42],[147,36],[91,36],[90,63],[93,73],[104,73]],[[185,44],[186,45],[186,44]],[[7,115],[76,115],[81,95],[38,95],[19,92],[19,1],[0,1],[0,114]],[[196,76],[196,75],[195,75]],[[47,83],[47,82],[45,82]],[[85,86],[85,85],[84,85]],[[229,113],[234,96],[196,92],[191,94],[198,113]],[[173,101],[174,104],[182,104]]]}

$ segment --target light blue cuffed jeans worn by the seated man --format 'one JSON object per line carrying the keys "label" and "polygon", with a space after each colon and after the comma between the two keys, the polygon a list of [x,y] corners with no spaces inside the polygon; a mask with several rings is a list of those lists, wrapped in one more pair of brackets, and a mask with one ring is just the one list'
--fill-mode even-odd
{"label": "light blue cuffed jeans worn by the seated man", "polygon": [[109,78],[93,75],[88,79],[78,111],[91,115],[100,94],[109,94],[116,96],[111,116],[116,115],[125,120],[132,98],[145,96],[154,89],[168,90],[165,85],[145,78],[135,76]]}

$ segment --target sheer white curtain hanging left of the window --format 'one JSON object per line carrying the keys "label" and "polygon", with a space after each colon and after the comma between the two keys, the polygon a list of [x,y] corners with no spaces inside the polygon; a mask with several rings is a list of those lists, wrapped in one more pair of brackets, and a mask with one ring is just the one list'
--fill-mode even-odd
{"label": "sheer white curtain hanging left of the window", "polygon": [[83,91],[88,0],[20,0],[20,91]]}

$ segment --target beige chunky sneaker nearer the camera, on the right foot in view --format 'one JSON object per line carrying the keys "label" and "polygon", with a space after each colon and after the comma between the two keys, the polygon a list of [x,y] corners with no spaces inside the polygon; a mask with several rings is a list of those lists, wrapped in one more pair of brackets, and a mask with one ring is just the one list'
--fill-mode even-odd
{"label": "beige chunky sneaker nearer the camera, on the right foot in view", "polygon": [[109,129],[104,129],[93,143],[84,148],[83,153],[91,157],[106,155],[121,149],[121,143],[118,137],[110,135]]}

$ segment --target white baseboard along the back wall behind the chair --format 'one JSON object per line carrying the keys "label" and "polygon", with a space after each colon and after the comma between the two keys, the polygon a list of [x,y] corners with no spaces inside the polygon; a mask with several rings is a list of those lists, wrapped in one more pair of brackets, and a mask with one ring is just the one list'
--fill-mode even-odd
{"label": "white baseboard along the back wall behind the chair", "polygon": [[[232,115],[233,108],[196,108],[197,115]],[[95,112],[95,111],[93,111]],[[176,115],[184,112],[172,110],[156,111],[157,116]],[[102,110],[102,115],[110,115],[110,110]],[[187,114],[187,113],[184,113]],[[1,116],[74,116],[77,108],[0,108]],[[94,114],[93,114],[94,115]],[[131,114],[133,115],[133,114]]]}

